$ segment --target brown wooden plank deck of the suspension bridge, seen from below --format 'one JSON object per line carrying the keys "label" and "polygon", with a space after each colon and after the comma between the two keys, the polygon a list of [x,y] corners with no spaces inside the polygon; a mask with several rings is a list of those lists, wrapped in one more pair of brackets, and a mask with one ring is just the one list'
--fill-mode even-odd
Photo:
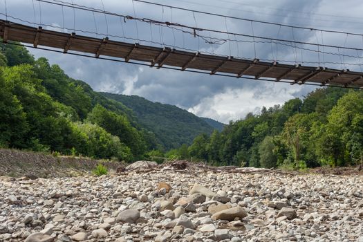
{"label": "brown wooden plank deck of the suspension bridge, seen from below", "polygon": [[247,60],[233,57],[220,57],[192,53],[171,48],[158,48],[129,44],[121,41],[111,41],[108,38],[97,39],[44,30],[41,27],[33,28],[9,21],[0,20],[0,36],[3,42],[19,41],[33,46],[47,46],[62,49],[64,53],[74,50],[82,53],[91,53],[95,57],[100,55],[118,57],[126,62],[135,60],[148,62],[150,66],[174,66],[185,69],[205,71],[211,75],[216,73],[235,75],[236,77],[252,76],[271,78],[276,82],[291,80],[291,84],[304,84],[306,82],[363,88],[363,73],[331,68],[288,65],[270,62],[260,62],[259,59]]}

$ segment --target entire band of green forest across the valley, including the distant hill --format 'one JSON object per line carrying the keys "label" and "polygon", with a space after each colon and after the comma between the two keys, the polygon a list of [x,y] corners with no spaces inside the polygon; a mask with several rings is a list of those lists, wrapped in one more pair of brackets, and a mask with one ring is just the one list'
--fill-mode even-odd
{"label": "entire band of green forest across the valley, including the distant hill", "polygon": [[363,162],[362,91],[317,89],[222,129],[176,106],[96,93],[47,59],[3,44],[0,86],[0,147],[290,169]]}

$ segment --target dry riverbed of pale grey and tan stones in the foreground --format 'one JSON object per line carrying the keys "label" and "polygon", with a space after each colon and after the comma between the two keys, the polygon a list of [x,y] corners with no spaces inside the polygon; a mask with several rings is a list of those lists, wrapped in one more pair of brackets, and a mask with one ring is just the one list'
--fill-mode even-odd
{"label": "dry riverbed of pale grey and tan stones in the foreground", "polygon": [[205,169],[0,178],[0,241],[363,241],[363,177]]}

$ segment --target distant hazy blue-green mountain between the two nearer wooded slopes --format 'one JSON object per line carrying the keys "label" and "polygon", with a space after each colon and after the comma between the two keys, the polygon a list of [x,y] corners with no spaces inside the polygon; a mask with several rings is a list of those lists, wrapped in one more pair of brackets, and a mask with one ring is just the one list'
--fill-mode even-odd
{"label": "distant hazy blue-green mountain between the two nearer wooded slopes", "polygon": [[136,95],[113,93],[102,93],[102,95],[121,102],[131,109],[138,118],[138,122],[145,129],[152,131],[165,149],[174,149],[183,144],[189,145],[199,134],[210,134],[216,127],[221,128],[219,122],[206,121],[205,118],[199,118],[174,105],[151,102]]}

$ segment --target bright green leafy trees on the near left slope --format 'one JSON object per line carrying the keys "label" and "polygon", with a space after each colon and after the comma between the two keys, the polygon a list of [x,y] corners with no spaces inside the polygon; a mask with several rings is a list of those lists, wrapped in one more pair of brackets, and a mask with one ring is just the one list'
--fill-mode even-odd
{"label": "bright green leafy trees on the near left slope", "polygon": [[25,48],[1,45],[0,146],[134,160],[152,140],[120,102]]}

